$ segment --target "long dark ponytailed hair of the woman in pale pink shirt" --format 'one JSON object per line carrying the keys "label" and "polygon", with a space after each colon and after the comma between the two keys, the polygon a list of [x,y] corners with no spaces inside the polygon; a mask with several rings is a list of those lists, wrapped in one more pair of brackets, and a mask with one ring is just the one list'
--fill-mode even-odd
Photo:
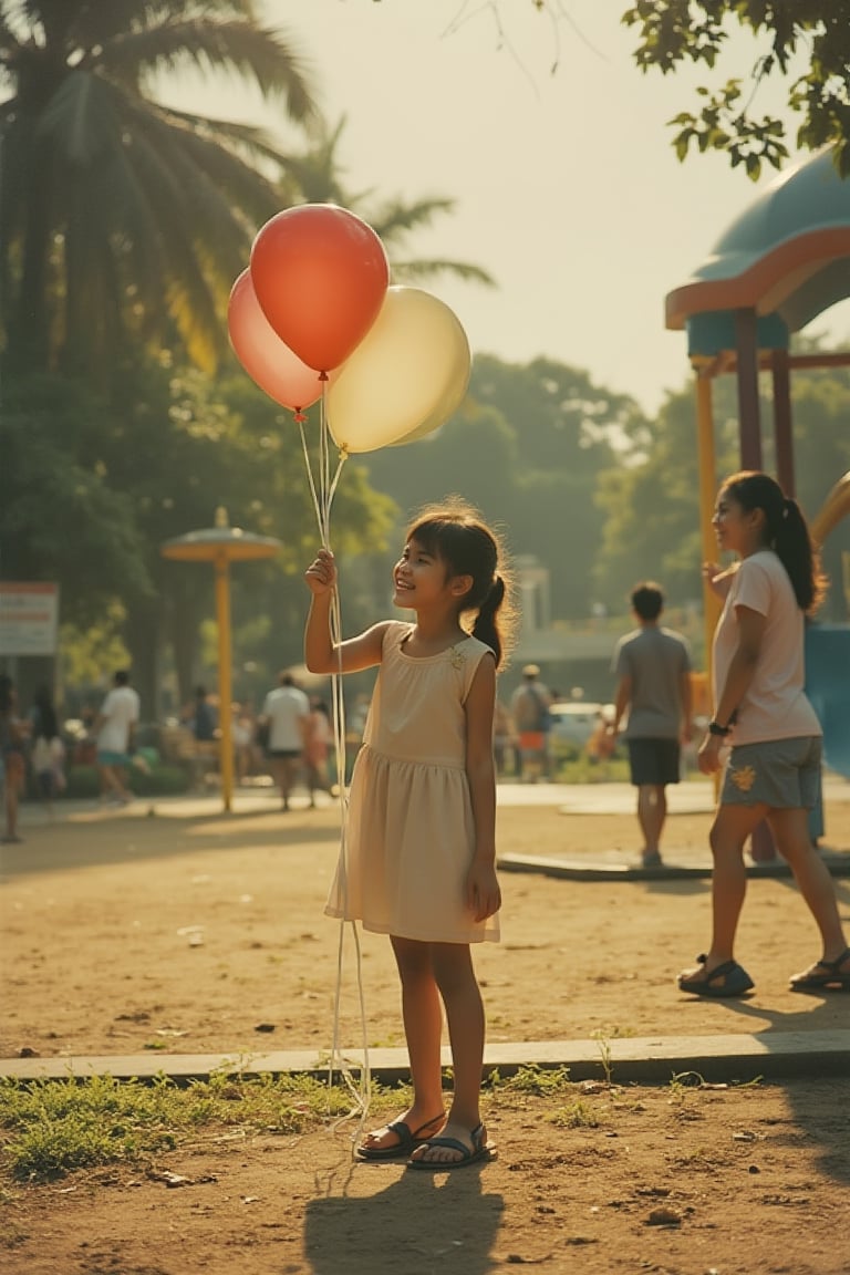
{"label": "long dark ponytailed hair of the woman in pale pink shirt", "polygon": [[785,496],[775,478],[757,469],[726,478],[723,491],[748,514],[762,510],[768,543],[788,571],[798,607],[807,615],[817,611],[827,581],[796,501]]}

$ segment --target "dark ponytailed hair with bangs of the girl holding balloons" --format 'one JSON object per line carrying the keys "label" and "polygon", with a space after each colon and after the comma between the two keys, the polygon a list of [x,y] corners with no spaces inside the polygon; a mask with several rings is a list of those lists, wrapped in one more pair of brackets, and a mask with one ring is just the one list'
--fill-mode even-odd
{"label": "dark ponytailed hair with bangs of the girl holding balloons", "polygon": [[445,562],[450,576],[472,576],[460,613],[477,612],[472,635],[489,646],[496,664],[501,664],[512,644],[515,612],[510,597],[510,571],[498,533],[487,527],[465,501],[450,497],[443,505],[428,505],[421,510],[408,528],[407,541],[415,541],[426,552]]}

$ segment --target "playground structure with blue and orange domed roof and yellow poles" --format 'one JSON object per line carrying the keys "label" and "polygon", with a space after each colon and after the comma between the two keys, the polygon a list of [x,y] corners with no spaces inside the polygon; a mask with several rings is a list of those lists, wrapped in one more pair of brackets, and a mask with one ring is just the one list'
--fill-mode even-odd
{"label": "playground structure with blue and orange domed roof and yellow poles", "polygon": [[[688,357],[696,372],[700,524],[707,561],[716,552],[711,515],[719,482],[714,379],[734,374],[740,467],[763,469],[758,390],[760,374],[770,372],[776,478],[785,493],[794,496],[791,372],[849,367],[850,351],[795,354],[790,352],[791,335],[847,297],[850,181],[839,175],[828,148],[772,181],[733,221],[692,278],[668,293],[666,326],[687,332]],[[839,478],[812,519],[816,541],[823,543],[847,514],[850,473]],[[709,650],[719,602],[707,586],[703,602]],[[813,625],[807,649],[809,690],[823,723],[827,762],[850,775],[850,625]],[[772,858],[772,844],[765,844],[763,836],[754,839],[753,856]]]}

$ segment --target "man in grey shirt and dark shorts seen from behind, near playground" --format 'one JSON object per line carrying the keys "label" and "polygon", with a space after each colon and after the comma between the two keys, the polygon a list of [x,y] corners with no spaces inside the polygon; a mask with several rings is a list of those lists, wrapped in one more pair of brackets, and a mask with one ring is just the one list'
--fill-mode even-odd
{"label": "man in grey shirt and dark shorts seen from behind, near playground", "polygon": [[614,652],[618,682],[609,729],[617,736],[628,711],[624,738],[644,834],[641,863],[654,868],[661,866],[666,785],[678,784],[681,743],[691,738],[691,657],[684,638],[659,625],[660,585],[636,585],[631,603],[640,627],[621,638]]}

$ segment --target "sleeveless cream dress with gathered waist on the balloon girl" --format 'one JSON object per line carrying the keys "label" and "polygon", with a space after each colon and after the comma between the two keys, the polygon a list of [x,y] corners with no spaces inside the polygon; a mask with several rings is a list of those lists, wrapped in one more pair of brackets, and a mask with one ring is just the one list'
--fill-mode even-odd
{"label": "sleeveless cream dress with gathered waist on the balloon girl", "polygon": [[325,912],[364,929],[426,942],[498,938],[464,901],[475,836],[466,780],[464,704],[489,646],[465,638],[424,659],[393,622],[363,746],[354,762],[348,831]]}

